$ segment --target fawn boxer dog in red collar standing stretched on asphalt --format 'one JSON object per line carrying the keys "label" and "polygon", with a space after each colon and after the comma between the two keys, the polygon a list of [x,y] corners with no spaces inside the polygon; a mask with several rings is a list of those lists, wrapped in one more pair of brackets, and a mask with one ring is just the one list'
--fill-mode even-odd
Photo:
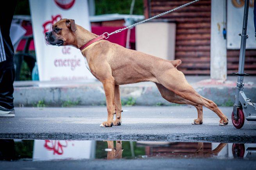
{"label": "fawn boxer dog in red collar standing stretched on asphalt", "polygon": [[[50,45],[74,46],[79,49],[97,37],[76,25],[73,19],[61,19],[52,26],[52,31],[45,33],[46,42]],[[107,121],[100,124],[101,127],[121,125],[122,105],[119,86],[143,81],[156,83],[163,98],[169,102],[195,106],[198,117],[192,124],[203,123],[202,106],[211,109],[220,117],[220,126],[228,123],[227,117],[217,105],[199,95],[188,84],[184,74],[177,70],[181,60],[164,60],[103,39],[92,43],[81,52],[88,62],[91,73],[102,82],[105,91]]]}

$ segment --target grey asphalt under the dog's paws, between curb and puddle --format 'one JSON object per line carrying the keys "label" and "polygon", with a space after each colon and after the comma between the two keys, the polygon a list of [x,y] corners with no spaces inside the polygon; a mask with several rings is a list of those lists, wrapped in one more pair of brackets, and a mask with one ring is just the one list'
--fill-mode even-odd
{"label": "grey asphalt under the dog's paws, between curb and puddle", "polygon": [[105,106],[16,107],[14,118],[0,118],[0,138],[256,143],[256,122],[245,121],[236,129],[232,107],[220,109],[229,118],[227,126],[218,126],[218,116],[207,108],[204,123],[193,125],[194,107],[134,106],[123,107],[121,126],[101,128],[107,119]]}

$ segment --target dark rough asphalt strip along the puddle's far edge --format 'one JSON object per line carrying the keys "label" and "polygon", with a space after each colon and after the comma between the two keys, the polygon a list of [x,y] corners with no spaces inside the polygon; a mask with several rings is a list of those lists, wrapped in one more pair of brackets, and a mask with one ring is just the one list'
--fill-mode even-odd
{"label": "dark rough asphalt strip along the puddle's far edge", "polygon": [[129,140],[158,142],[221,142],[221,143],[255,143],[256,136],[250,135],[200,135],[195,134],[134,134],[122,133],[0,133],[0,138],[41,139],[41,140]]}

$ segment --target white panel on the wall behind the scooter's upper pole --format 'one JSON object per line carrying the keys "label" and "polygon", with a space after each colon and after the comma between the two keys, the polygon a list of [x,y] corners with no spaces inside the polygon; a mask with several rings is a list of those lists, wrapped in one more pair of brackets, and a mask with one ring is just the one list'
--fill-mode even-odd
{"label": "white panel on the wall behind the scooter's upper pole", "polygon": [[[250,0],[246,49],[256,49],[254,22],[253,22],[253,1]],[[227,49],[240,49],[243,25],[244,0],[227,0]]]}

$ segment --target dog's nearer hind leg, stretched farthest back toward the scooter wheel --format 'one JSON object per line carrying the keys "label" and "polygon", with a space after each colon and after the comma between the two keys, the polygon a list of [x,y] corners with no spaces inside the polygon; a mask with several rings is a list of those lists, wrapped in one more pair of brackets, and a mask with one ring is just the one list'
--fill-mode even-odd
{"label": "dog's nearer hind leg, stretched farthest back toward the scooter wheel", "polygon": [[159,83],[165,86],[165,88],[173,91],[175,94],[181,96],[182,98],[211,109],[218,115],[218,117],[220,117],[220,126],[224,126],[228,123],[227,117],[222,113],[218,106],[213,101],[203,98],[201,95],[199,95],[195,89],[193,89],[192,86],[188,84],[184,74],[178,71],[176,68],[161,72],[161,74],[159,74],[156,78],[158,79]]}

